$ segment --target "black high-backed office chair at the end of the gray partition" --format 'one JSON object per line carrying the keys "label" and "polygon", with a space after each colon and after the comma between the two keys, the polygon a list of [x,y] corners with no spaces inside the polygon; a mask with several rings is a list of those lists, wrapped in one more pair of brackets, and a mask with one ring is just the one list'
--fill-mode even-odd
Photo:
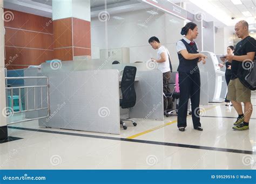
{"label": "black high-backed office chair at the end of the gray partition", "polygon": [[[121,81],[121,91],[123,98],[119,100],[120,107],[131,108],[136,104],[136,92],[134,88],[134,80],[136,76],[137,68],[134,66],[125,66],[123,71],[123,77]],[[132,121],[133,126],[137,126],[136,122],[132,119],[120,119],[120,124],[124,130],[127,129],[124,121]]]}

